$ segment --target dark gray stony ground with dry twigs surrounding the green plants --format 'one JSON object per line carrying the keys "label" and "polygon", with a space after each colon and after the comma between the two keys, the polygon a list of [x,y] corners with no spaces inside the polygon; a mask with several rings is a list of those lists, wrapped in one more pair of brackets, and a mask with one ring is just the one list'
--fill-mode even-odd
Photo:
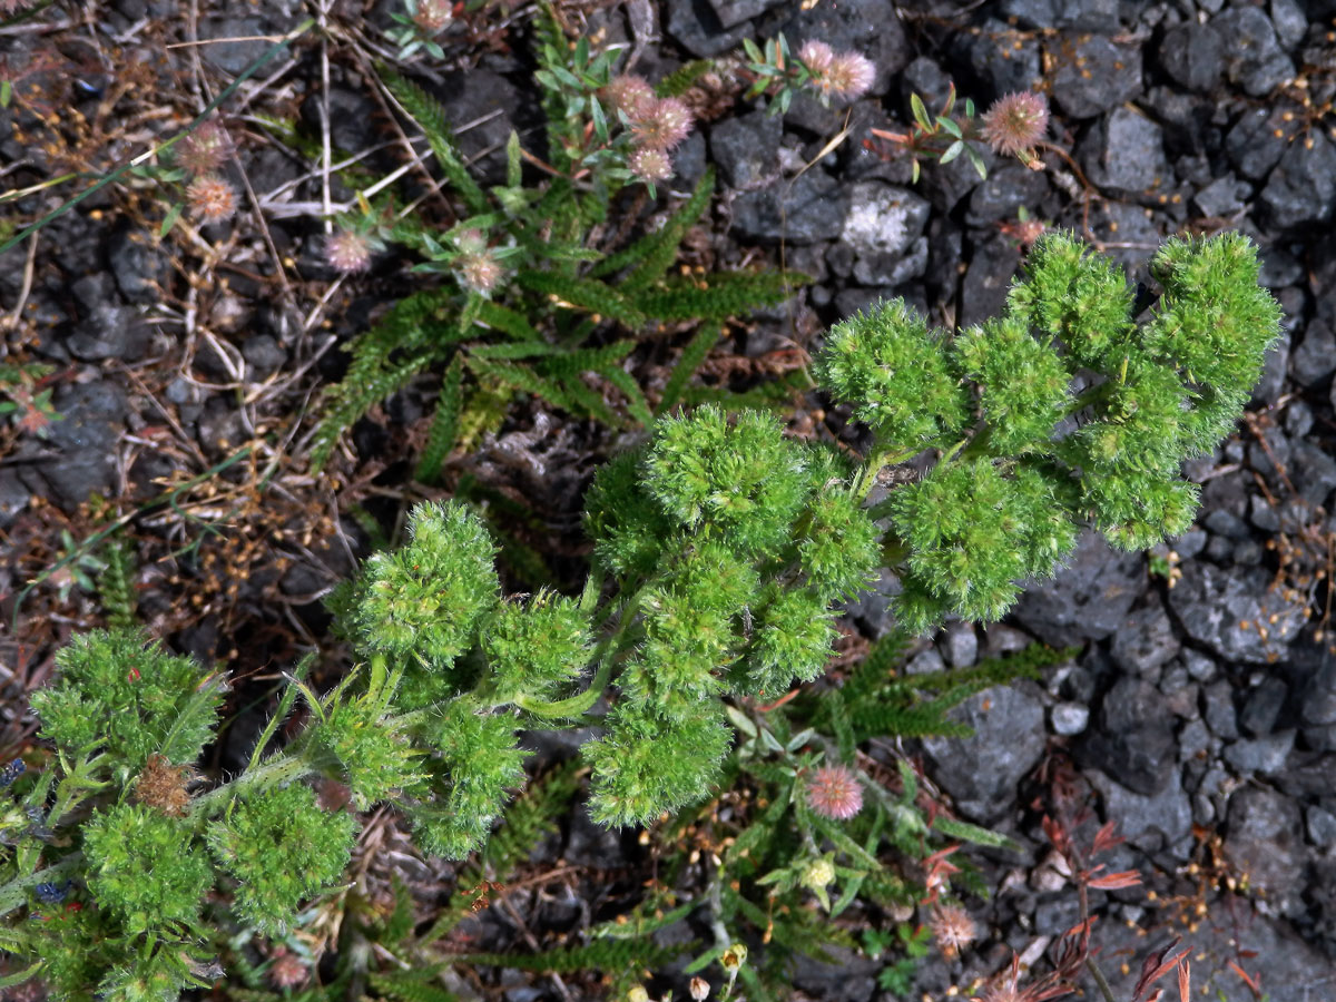
{"label": "dark gray stony ground with dry twigs surrounding the green plants", "polygon": [[[138,556],[143,621],[263,692],[325,640],[319,595],[402,508],[442,493],[410,482],[429,385],[361,422],[327,474],[306,464],[307,409],[341,371],[338,345],[409,278],[406,262],[387,258],[334,281],[319,259],[330,194],[310,150],[273,123],[311,135],[327,122],[339,150],[379,168],[398,140],[365,87],[365,59],[391,48],[382,32],[394,9],[71,0],[0,33],[0,75],[13,81],[0,111],[0,204],[12,232],[182,127],[269,47],[265,36],[307,15],[329,28],[305,35],[224,106],[239,148],[230,170],[246,192],[236,220],[187,222],[156,239],[170,192],[127,176],[4,255],[0,359],[52,366],[43,387],[63,418],[44,434],[37,418],[0,428],[9,700],[0,747],[31,733],[19,696],[49,673],[55,647],[99,621],[77,564],[49,570],[100,528],[115,521]],[[1081,651],[1043,685],[973,700],[965,717],[977,737],[911,749],[959,815],[1026,847],[978,854],[995,894],[975,915],[991,937],[965,961],[926,963],[916,991],[946,997],[1001,970],[1013,949],[1035,957],[1035,943],[1073,923],[1075,903],[1033,810],[1041,779],[1065,768],[1129,839],[1110,868],[1149,878],[1152,894],[1116,891],[1101,906],[1096,942],[1120,998],[1134,979],[1126,971],[1170,934],[1193,946],[1209,997],[1336,997],[1327,587],[1336,553],[1336,4],[629,0],[564,9],[587,33],[629,43],[636,71],[651,77],[779,31],[795,44],[858,48],[878,65],[847,123],[815,102],[779,118],[725,94],[684,147],[669,192],[689,190],[707,163],[723,179],[700,253],[776,263],[783,254],[816,279],[775,315],[740,326],[709,359],[716,371],[764,373],[883,295],[946,326],[983,319],[1023,258],[1021,210],[1077,230],[1134,281],[1174,232],[1236,228],[1257,242],[1285,337],[1238,434],[1190,470],[1202,484],[1196,528],[1149,560],[1089,538],[1006,623],[954,624],[914,655],[910,671],[969,665],[1031,639]],[[414,63],[453,120],[472,124],[470,155],[496,156],[512,127],[532,131],[525,24],[522,7],[488,4],[461,17],[444,63]],[[218,39],[242,40],[168,48]],[[933,107],[950,81],[981,107],[1014,90],[1047,94],[1046,170],[986,154],[986,182],[962,158],[925,164],[911,184],[907,160],[870,130],[903,128],[910,94]],[[846,124],[846,139],[803,171]],[[637,377],[661,378],[656,363],[637,355]],[[844,433],[822,401],[803,407],[800,420]],[[480,454],[452,461],[448,481],[469,473],[524,500],[541,526],[534,545],[569,570],[580,564],[580,493],[615,445],[521,406]],[[886,633],[892,591],[886,580],[851,607],[851,628]],[[243,713],[216,764],[238,764],[247,725]],[[580,895],[600,880],[633,886],[644,866],[632,840],[582,812],[552,854],[584,874]],[[589,910],[572,894],[516,902],[530,925],[576,929]],[[492,915],[480,929],[494,942],[484,946],[517,942],[517,922]],[[810,998],[890,998],[876,970],[854,957],[838,969],[803,963],[795,986]],[[540,979],[505,997],[552,991]]]}

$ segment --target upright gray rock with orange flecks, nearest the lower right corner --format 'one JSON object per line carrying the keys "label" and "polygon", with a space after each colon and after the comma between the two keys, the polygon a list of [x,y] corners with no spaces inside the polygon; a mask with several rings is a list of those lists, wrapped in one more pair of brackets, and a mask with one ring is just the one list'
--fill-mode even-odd
{"label": "upright gray rock with orange flecks, nearest the lower right corner", "polygon": [[1307,851],[1299,804],[1275,790],[1242,787],[1229,798],[1226,824],[1225,859],[1279,914],[1303,914]]}

